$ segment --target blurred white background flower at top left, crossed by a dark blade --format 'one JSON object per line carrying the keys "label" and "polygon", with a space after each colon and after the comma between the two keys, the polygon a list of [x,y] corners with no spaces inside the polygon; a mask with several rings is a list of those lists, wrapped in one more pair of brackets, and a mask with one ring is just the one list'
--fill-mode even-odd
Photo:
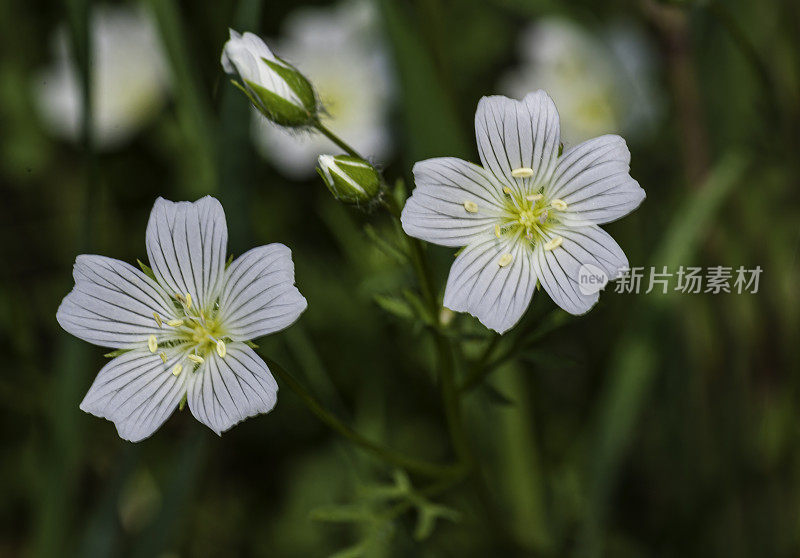
{"label": "blurred white background flower at top left, crossed by a dark blade", "polygon": [[[130,139],[163,108],[169,72],[155,23],[138,6],[96,6],[91,15],[93,133],[101,149]],[[36,78],[41,117],[56,136],[82,132],[82,86],[66,25],[54,40],[55,60]]]}

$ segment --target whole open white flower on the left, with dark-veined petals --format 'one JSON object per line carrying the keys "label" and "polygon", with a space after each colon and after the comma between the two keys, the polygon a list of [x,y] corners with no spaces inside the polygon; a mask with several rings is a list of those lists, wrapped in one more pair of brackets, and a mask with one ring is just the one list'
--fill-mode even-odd
{"label": "whole open white flower on the left, with dark-veined petals", "polygon": [[75,287],[58,309],[66,331],[123,350],[80,407],[111,420],[131,441],[150,436],[186,398],[217,434],[274,406],[278,386],[247,342],[281,330],[305,310],[291,252],[254,248],[226,268],[220,203],[159,198],[147,225],[155,279],[103,256],[75,261]]}

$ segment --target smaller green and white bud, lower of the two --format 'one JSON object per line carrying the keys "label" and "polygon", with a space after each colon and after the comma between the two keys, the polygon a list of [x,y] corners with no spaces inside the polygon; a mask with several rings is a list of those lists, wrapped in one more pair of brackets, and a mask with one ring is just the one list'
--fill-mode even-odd
{"label": "smaller green and white bud, lower of the two", "polygon": [[378,171],[358,157],[320,155],[317,172],[333,197],[344,203],[369,202],[380,190]]}

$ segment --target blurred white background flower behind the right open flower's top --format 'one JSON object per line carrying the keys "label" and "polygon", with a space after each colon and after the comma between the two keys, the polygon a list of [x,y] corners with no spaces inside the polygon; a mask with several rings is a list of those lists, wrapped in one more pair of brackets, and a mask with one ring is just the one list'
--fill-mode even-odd
{"label": "blurred white background flower behind the right open flower's top", "polygon": [[612,132],[635,141],[654,129],[661,105],[654,56],[632,23],[615,22],[594,35],[567,19],[542,18],[523,32],[520,55],[500,90],[519,98],[546,90],[567,145]]}

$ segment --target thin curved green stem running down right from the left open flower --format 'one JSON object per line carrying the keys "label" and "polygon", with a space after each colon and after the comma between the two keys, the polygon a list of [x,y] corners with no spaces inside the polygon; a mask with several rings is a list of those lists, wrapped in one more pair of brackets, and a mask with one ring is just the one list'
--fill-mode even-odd
{"label": "thin curved green stem running down right from the left open flower", "polygon": [[286,385],[289,386],[289,389],[291,389],[297,394],[298,397],[300,397],[303,403],[305,403],[309,410],[314,413],[318,419],[362,449],[372,453],[374,456],[386,461],[387,463],[396,465],[397,467],[430,477],[451,476],[458,473],[461,469],[459,465],[441,465],[421,459],[415,459],[391,448],[384,447],[371,440],[368,440],[325,409],[325,407],[323,407],[322,404],[317,401],[317,399],[311,395],[311,393],[309,393],[305,386],[303,386],[303,384],[295,379],[294,376],[287,372],[281,365],[274,360],[264,357],[263,355],[262,358],[269,366],[269,369],[277,374],[281,380],[283,380]]}

